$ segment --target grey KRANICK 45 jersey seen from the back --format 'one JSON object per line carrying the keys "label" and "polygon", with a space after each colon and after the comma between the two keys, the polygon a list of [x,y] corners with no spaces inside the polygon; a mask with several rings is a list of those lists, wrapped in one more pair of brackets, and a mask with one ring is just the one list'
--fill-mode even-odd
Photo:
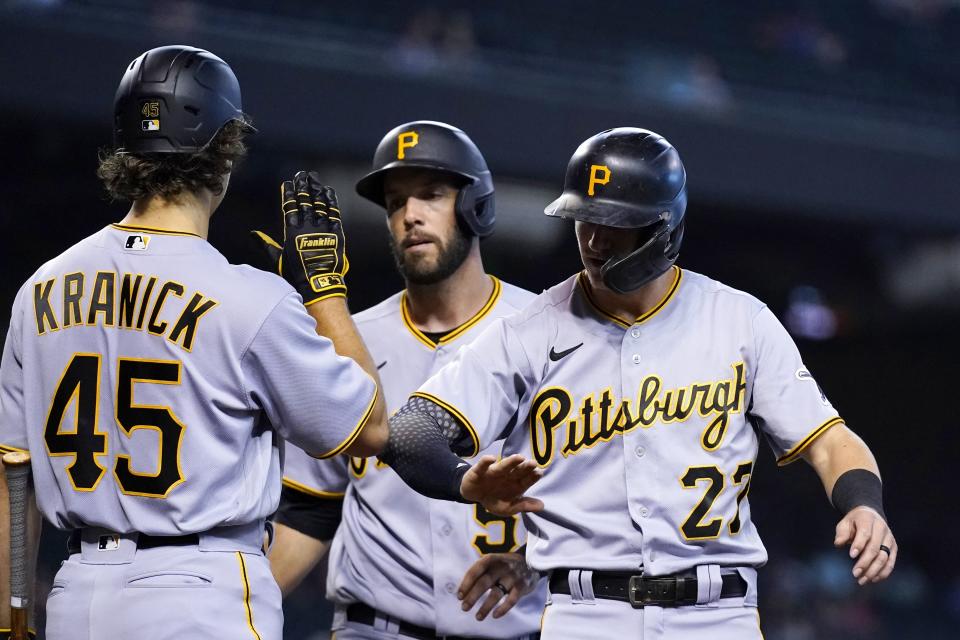
{"label": "grey KRANICK 45 jersey seen from the back", "polygon": [[29,449],[37,503],[61,528],[262,520],[280,498],[277,436],[335,455],[376,397],[315,327],[280,277],[198,236],[108,226],[17,295],[0,445]]}

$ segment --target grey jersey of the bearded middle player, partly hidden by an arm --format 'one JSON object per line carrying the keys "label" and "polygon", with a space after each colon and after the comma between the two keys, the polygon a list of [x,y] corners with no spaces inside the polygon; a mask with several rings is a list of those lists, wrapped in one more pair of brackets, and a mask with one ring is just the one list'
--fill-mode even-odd
{"label": "grey jersey of the bearded middle player, partly hidden by an arm", "polygon": [[[477,315],[436,345],[410,321],[402,293],[356,314],[357,328],[380,367],[388,410],[399,409],[480,330],[533,298],[494,279],[493,293]],[[499,455],[500,443],[493,440],[481,453]],[[461,611],[456,596],[463,574],[482,554],[514,551],[524,544],[526,532],[518,517],[430,500],[376,458],[315,460],[288,447],[284,484],[321,497],[346,492],[330,549],[327,597],[334,601],[361,601],[440,635],[507,638],[539,629],[546,601],[543,584],[498,620],[478,622],[475,612]]]}

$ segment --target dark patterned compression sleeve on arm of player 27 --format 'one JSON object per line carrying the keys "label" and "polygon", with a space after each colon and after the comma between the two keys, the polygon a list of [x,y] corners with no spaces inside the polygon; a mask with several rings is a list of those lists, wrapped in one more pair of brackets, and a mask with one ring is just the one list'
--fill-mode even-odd
{"label": "dark patterned compression sleeve on arm of player 27", "polygon": [[466,427],[443,407],[414,396],[390,418],[390,438],[380,459],[428,498],[467,502],[460,481],[470,465],[452,450],[472,450]]}

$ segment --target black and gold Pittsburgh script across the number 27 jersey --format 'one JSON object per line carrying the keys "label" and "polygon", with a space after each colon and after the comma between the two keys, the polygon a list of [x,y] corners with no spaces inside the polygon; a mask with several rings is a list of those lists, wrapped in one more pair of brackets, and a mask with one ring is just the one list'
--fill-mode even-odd
{"label": "black and gold Pittsburgh script across the number 27 jersey", "polygon": [[647,376],[640,381],[635,402],[624,398],[616,403],[607,387],[599,394],[584,396],[572,418],[571,393],[563,387],[548,387],[537,394],[530,408],[533,457],[541,467],[550,464],[556,446],[554,430],[564,425],[567,438],[560,453],[566,458],[637,427],[681,423],[694,413],[711,418],[700,436],[700,444],[707,451],[714,451],[723,443],[730,415],[743,409],[747,388],[743,362],[730,366],[733,369],[730,378],[677,389],[664,389],[659,376]]}

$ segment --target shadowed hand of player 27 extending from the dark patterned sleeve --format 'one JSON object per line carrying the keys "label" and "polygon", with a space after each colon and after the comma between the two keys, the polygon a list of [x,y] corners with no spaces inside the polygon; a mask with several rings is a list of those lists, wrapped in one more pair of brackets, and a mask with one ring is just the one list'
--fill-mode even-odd
{"label": "shadowed hand of player 27 extending from the dark patterned sleeve", "polygon": [[523,494],[542,476],[536,463],[520,454],[499,461],[494,456],[482,456],[460,481],[460,495],[498,516],[540,511],[543,502]]}

